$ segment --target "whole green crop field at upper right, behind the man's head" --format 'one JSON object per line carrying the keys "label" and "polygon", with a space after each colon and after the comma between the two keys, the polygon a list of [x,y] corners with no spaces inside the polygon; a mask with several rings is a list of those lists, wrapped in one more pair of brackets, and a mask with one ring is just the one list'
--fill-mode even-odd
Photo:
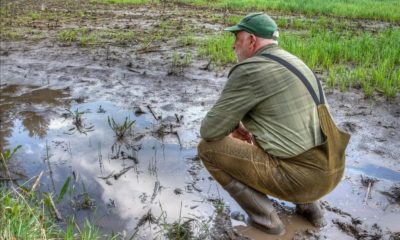
{"label": "whole green crop field at upper right, behind the man's head", "polygon": [[[107,3],[155,4],[163,1],[102,0]],[[400,90],[400,2],[394,0],[270,1],[176,0],[176,4],[225,11],[225,25],[248,12],[269,13],[280,28],[279,44],[314,71],[325,72],[327,85],[345,91],[362,89],[367,97],[388,99]],[[233,36],[222,31],[198,44],[198,55],[217,65],[234,64]]]}

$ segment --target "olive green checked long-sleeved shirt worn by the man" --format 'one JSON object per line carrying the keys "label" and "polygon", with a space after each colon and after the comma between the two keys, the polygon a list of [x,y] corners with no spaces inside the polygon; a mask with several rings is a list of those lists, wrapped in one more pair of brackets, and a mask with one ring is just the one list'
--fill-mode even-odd
{"label": "olive green checked long-sleeved shirt worn by the man", "polygon": [[236,64],[220,98],[203,119],[201,137],[217,141],[240,121],[265,152],[291,157],[322,143],[317,106],[301,80],[261,54],[285,59],[308,79],[319,97],[313,72],[296,56],[271,44]]}

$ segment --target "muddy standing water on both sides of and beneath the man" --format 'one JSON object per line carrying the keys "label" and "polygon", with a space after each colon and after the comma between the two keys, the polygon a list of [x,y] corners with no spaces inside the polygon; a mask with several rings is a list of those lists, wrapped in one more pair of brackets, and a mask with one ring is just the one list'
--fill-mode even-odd
{"label": "muddy standing water on both sides of and beneath the man", "polygon": [[[173,134],[160,136],[160,121],[149,111],[138,114],[136,108],[123,109],[109,101],[78,103],[65,89],[38,86],[8,85],[1,89],[1,96],[2,144],[5,148],[23,146],[14,162],[19,166],[16,171],[28,178],[43,171],[45,177],[39,189],[56,193],[56,197],[66,179],[71,178],[70,191],[59,205],[64,217],[74,215],[78,222],[88,217],[106,233],[133,233],[149,211],[161,217],[163,223],[186,218],[207,221],[215,214],[210,199],[222,198],[231,211],[243,213],[208,177],[196,159],[194,147],[169,143],[176,142]],[[82,113],[83,127],[79,129],[70,114],[75,111]],[[118,141],[108,117],[117,123],[127,118],[135,124]],[[285,235],[267,236],[241,221],[233,220],[233,226],[254,239],[352,239],[335,230],[334,222],[351,222],[357,216],[364,224],[360,231],[371,231],[375,223],[382,231],[400,231],[398,207],[380,192],[399,182],[400,174],[396,169],[373,164],[374,155],[368,159],[369,163],[362,166],[349,165],[346,179],[323,199],[340,211],[326,207],[330,209],[325,210],[329,224],[321,230],[294,214],[293,204],[279,200],[285,206],[280,210],[287,226]],[[357,184],[361,175],[379,180],[371,198],[365,198],[367,188]],[[89,203],[85,199],[90,199]],[[161,237],[161,224],[140,226],[140,235]]]}

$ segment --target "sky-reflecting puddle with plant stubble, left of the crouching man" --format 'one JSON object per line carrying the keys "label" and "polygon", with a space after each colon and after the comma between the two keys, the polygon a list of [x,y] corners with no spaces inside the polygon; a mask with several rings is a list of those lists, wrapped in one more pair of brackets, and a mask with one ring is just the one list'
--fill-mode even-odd
{"label": "sky-reflecting puddle with plant stubble, left of the crouching man", "polygon": [[[49,89],[42,91],[55,93]],[[31,99],[25,97],[26,94],[8,95],[2,97],[2,109],[11,102],[18,105],[18,98],[27,102]],[[34,95],[32,91],[30,96]],[[119,109],[107,101],[55,102],[57,97],[53,95],[47,95],[53,102],[43,100],[28,104],[40,109],[34,112],[37,115],[32,115],[39,120],[21,108],[18,113],[2,116],[13,116],[2,127],[2,139],[6,147],[22,145],[16,163],[23,166],[25,175],[32,177],[44,171],[41,192],[58,194],[66,179],[71,178],[72,192],[69,191],[60,204],[64,217],[73,213],[78,221],[89,217],[105,232],[125,230],[129,233],[150,209],[154,216],[163,214],[164,220],[171,222],[180,217],[201,219],[212,215],[213,208],[198,192],[202,190],[193,187],[195,182],[208,180],[201,176],[200,168],[196,168],[196,164],[199,166],[198,161],[193,160],[196,150],[164,144],[154,136],[159,126],[150,114],[137,115],[134,110]],[[58,108],[58,112],[47,113],[47,108]],[[91,131],[77,131],[72,117],[62,108],[83,113],[83,125]],[[8,107],[7,111],[12,109]],[[117,141],[108,125],[108,117],[117,123],[127,118],[135,124],[123,140]],[[85,196],[93,203],[90,210],[82,206]]]}

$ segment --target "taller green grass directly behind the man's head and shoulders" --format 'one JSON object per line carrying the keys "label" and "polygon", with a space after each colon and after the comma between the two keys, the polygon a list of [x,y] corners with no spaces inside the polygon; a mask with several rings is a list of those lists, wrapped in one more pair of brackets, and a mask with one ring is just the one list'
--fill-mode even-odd
{"label": "taller green grass directly behind the man's head and shoulders", "polygon": [[[318,22],[318,21],[317,21]],[[309,31],[281,34],[279,44],[300,57],[311,69],[329,72],[328,86],[345,91],[361,87],[366,96],[374,92],[387,98],[400,91],[400,29],[388,28],[377,33],[329,30],[314,24]],[[333,22],[333,21],[332,21]],[[305,24],[308,24],[307,22]],[[216,65],[236,63],[232,50],[233,34],[211,36],[200,43],[198,55]]]}

